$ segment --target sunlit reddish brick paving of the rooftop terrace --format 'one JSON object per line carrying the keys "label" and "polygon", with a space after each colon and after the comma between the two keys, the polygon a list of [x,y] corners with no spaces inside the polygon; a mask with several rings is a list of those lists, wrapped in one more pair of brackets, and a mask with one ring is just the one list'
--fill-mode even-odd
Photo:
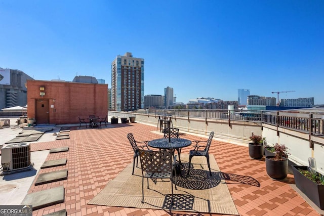
{"label": "sunlit reddish brick paving of the rooftop terrace", "polygon": [[[156,127],[141,123],[117,124],[113,128],[99,129],[72,127],[68,140],[31,144],[32,151],[69,147],[68,152],[49,154],[47,157],[47,160],[67,158],[65,166],[39,171],[42,174],[68,169],[67,180],[32,185],[28,191],[32,193],[64,186],[65,202],[35,210],[33,215],[61,209],[66,209],[67,215],[219,215],[87,204],[132,162],[134,152],[127,134],[133,133],[138,141],[161,138],[161,135],[152,133],[155,130]],[[207,139],[189,134],[183,134],[181,138],[192,141]],[[189,149],[183,149],[183,152],[187,153]],[[210,153],[215,156],[227,179],[227,186],[240,215],[319,215],[291,188],[289,184],[294,183],[292,175],[288,175],[285,182],[271,180],[266,174],[265,162],[252,160],[248,147],[214,139]]]}

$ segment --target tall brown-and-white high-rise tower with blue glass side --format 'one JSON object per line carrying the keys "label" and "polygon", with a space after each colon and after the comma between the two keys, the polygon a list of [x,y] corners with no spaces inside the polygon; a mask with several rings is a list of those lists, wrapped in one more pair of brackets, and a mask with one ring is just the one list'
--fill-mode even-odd
{"label": "tall brown-and-white high-rise tower with blue glass side", "polygon": [[111,109],[144,108],[144,59],[132,53],[117,56],[111,63]]}

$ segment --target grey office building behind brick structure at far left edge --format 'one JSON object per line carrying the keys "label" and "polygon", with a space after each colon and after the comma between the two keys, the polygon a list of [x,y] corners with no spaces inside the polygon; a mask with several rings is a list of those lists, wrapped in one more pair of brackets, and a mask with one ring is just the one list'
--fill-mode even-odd
{"label": "grey office building behind brick structure at far left edge", "polygon": [[26,106],[27,79],[33,79],[21,70],[0,68],[0,109]]}

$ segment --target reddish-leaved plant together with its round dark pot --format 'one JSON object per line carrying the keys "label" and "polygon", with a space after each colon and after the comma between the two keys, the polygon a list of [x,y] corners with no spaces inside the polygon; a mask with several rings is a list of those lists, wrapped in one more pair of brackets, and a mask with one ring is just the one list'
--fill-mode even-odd
{"label": "reddish-leaved plant together with its round dark pot", "polygon": [[265,157],[267,174],[272,179],[285,179],[288,174],[288,152],[287,146],[276,143],[274,146],[274,156]]}

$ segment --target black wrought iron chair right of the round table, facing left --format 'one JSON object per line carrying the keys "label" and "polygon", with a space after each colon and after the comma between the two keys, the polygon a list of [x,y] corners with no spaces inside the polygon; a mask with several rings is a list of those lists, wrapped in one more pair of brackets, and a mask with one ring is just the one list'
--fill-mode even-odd
{"label": "black wrought iron chair right of the round table, facing left", "polygon": [[[193,150],[190,150],[189,152],[189,167],[188,167],[188,175],[190,172],[190,164],[191,164],[191,159],[193,156],[205,156],[207,159],[207,164],[208,164],[208,168],[209,168],[209,173],[212,176],[212,172],[211,172],[211,165],[209,163],[209,147],[212,144],[212,140],[214,137],[214,132],[211,132],[209,135],[209,139],[206,141],[193,141],[196,142],[196,145],[194,147]],[[206,145],[201,145],[200,143],[206,143]]]}

